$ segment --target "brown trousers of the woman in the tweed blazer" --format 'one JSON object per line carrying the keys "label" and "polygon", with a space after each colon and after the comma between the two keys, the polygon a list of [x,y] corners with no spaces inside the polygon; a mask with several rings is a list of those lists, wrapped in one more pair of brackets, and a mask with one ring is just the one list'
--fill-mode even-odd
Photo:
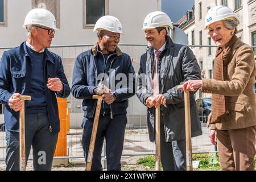
{"label": "brown trousers of the woman in the tweed blazer", "polygon": [[236,130],[216,130],[222,170],[254,170],[255,126]]}

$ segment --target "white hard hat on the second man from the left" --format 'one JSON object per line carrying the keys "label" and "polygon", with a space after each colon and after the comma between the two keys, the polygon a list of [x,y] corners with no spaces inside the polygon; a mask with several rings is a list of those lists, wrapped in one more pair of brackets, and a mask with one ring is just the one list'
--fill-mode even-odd
{"label": "white hard hat on the second man from the left", "polygon": [[110,15],[102,16],[97,20],[93,31],[95,32],[97,30],[108,30],[110,32],[123,34],[121,22],[114,16]]}

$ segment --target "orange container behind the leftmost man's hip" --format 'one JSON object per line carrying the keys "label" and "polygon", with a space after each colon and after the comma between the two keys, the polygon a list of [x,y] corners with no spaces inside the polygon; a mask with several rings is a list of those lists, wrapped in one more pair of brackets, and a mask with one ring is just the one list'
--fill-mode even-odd
{"label": "orange container behind the leftmost man's hip", "polygon": [[67,98],[57,98],[60,132],[54,156],[67,156]]}

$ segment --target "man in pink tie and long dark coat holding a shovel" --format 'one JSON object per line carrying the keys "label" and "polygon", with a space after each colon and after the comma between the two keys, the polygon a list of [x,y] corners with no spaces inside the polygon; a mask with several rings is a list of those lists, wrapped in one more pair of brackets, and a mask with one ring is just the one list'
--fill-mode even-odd
{"label": "man in pink tie and long dark coat holding a shovel", "polygon": [[[149,48],[141,56],[137,96],[148,107],[151,142],[155,140],[155,107],[160,105],[160,159],[163,169],[185,170],[184,94],[177,90],[177,85],[201,78],[201,74],[191,49],[173,43],[167,35],[170,28],[171,19],[161,11],[154,11],[144,19],[142,30]],[[190,94],[192,137],[202,134],[194,93]]]}

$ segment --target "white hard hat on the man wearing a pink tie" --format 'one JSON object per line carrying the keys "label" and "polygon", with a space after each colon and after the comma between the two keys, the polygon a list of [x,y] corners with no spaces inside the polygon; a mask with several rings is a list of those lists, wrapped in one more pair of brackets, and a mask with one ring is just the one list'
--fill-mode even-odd
{"label": "white hard hat on the man wearing a pink tie", "polygon": [[173,28],[170,17],[162,11],[154,11],[146,16],[143,22],[142,30],[156,27],[170,27]]}

